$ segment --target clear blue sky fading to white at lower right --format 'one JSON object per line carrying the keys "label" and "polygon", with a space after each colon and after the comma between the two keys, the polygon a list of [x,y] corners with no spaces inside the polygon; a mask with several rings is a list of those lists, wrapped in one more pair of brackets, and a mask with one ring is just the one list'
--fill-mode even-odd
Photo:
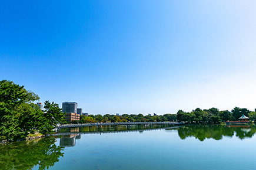
{"label": "clear blue sky fading to white at lower right", "polygon": [[256,1],[2,1],[0,80],[89,114],[256,108]]}

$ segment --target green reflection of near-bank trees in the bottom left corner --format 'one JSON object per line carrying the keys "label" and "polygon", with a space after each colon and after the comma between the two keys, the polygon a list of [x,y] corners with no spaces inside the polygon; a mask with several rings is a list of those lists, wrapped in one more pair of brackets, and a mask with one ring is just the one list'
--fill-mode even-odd
{"label": "green reflection of near-bank trees in the bottom left corner", "polygon": [[42,138],[0,145],[0,167],[1,169],[31,169],[39,165],[39,169],[48,169],[64,155],[61,152],[64,147],[57,147],[55,142],[55,138]]}

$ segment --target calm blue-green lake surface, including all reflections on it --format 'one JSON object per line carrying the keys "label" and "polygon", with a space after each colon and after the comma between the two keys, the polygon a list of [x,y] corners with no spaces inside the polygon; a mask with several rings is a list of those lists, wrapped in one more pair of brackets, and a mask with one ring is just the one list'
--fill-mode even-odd
{"label": "calm blue-green lake surface, including all reflections on it", "polygon": [[256,169],[255,125],[67,128],[0,145],[0,169]]}

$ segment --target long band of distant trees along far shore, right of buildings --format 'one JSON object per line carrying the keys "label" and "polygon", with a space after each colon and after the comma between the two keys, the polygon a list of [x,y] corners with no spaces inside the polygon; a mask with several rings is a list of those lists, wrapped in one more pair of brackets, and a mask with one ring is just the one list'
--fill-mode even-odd
{"label": "long band of distant trees along far shore, right of buildings", "polygon": [[[256,109],[255,109],[256,111]],[[247,108],[235,107],[231,111],[220,111],[218,108],[210,108],[201,110],[196,108],[191,112],[185,112],[178,110],[177,114],[164,114],[164,115],[142,115],[142,114],[97,114],[97,115],[81,115],[80,121],[77,123],[106,123],[106,122],[162,122],[162,121],[178,121],[185,123],[220,123],[225,121],[237,121],[243,114],[250,118],[250,120],[256,120],[255,111],[250,111]],[[75,123],[75,122],[73,122]]]}

